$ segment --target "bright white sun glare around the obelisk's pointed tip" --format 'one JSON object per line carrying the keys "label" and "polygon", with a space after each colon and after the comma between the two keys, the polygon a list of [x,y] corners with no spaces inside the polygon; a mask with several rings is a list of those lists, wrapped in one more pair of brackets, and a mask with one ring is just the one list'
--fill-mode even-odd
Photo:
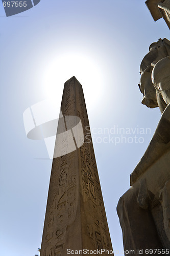
{"label": "bright white sun glare around the obelisk's pointed tip", "polygon": [[87,108],[99,103],[103,80],[99,64],[91,57],[75,53],[48,60],[43,75],[45,96],[52,101],[58,101],[60,108],[64,82],[72,76],[82,84]]}

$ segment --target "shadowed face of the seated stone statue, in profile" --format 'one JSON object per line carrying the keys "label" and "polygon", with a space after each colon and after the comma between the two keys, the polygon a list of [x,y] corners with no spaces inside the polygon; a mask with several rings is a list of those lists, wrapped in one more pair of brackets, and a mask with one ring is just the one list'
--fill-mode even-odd
{"label": "shadowed face of the seated stone statue, in profile", "polygon": [[[148,69],[147,69],[148,70]],[[143,94],[143,99],[141,103],[148,106],[148,108],[157,108],[158,103],[156,99],[156,89],[153,86],[151,80],[151,72],[145,70],[140,78],[140,83],[138,84],[140,92]]]}

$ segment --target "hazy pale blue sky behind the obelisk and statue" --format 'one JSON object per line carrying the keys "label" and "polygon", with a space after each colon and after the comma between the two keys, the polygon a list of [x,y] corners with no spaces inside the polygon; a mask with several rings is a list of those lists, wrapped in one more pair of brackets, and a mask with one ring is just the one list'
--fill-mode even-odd
{"label": "hazy pale blue sky behind the obelisk and statue", "polygon": [[64,82],[74,75],[83,86],[112,245],[120,254],[116,205],[161,115],[140,103],[139,66],[152,42],[169,39],[168,27],[163,19],[155,23],[141,0],[41,0],[10,17],[0,2],[0,22],[1,255],[34,256],[41,246],[52,160],[38,159],[48,158],[44,141],[27,138],[22,115],[51,96],[60,108]]}

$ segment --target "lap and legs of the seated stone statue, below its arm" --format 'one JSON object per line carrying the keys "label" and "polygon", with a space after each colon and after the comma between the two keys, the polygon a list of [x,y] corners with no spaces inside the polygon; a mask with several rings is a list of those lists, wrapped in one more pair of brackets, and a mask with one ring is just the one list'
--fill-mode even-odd
{"label": "lap and legs of the seated stone statue, below its arm", "polygon": [[170,151],[150,166],[120,198],[117,213],[125,250],[136,250],[137,255],[139,248],[170,248],[169,180]]}

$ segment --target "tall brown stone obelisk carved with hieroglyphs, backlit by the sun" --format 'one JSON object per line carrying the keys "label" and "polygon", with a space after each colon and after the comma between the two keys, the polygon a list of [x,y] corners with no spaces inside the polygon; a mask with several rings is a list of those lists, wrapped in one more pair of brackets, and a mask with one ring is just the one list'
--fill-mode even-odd
{"label": "tall brown stone obelisk carved with hieroglyphs, backlit by the sun", "polygon": [[[71,250],[83,249],[105,249],[102,255],[113,255],[108,254],[112,245],[83,90],[76,77],[64,84],[61,112],[57,130],[60,138],[56,137],[40,255],[66,256]],[[79,122],[73,127],[71,121],[66,121],[73,116],[81,120],[82,126]],[[72,142],[61,132],[62,126],[65,133],[70,132]],[[81,127],[84,143],[82,136],[79,138]],[[69,142],[75,143],[75,148],[70,147]],[[62,150],[62,145],[67,148],[67,154],[56,154],[58,147]]]}

